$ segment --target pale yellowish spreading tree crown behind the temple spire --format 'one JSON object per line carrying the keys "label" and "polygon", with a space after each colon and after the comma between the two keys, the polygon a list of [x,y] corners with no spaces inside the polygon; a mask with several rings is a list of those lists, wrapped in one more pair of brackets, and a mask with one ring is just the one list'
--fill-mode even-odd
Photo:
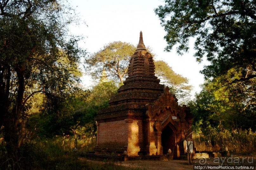
{"label": "pale yellowish spreading tree crown behind the temple spire", "polygon": [[[152,54],[150,47],[147,49]],[[135,50],[136,47],[132,44],[121,41],[112,42],[90,55],[85,63],[93,77],[99,78],[105,69],[108,78],[119,80],[122,84],[123,79],[127,77],[129,60]],[[152,56],[154,57],[154,54]],[[171,92],[176,94],[179,99],[185,100],[189,97],[191,86],[188,85],[187,78],[175,73],[166,62],[155,61],[155,73],[161,79],[161,83],[168,85]]]}

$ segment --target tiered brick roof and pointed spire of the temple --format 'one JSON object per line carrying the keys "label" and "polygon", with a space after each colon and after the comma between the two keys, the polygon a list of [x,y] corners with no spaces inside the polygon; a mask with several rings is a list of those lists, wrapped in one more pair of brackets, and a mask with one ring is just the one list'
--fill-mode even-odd
{"label": "tiered brick roof and pointed spire of the temple", "polygon": [[[137,49],[131,56],[128,66],[128,78],[118,89],[117,95],[110,98],[107,109],[101,110],[96,120],[100,117],[107,118],[110,111],[118,111],[127,107],[144,108],[145,104],[155,101],[163,92],[164,85],[155,76],[155,65],[152,55],[146,50],[143,43],[142,32]],[[124,112],[122,112],[124,114]],[[120,113],[116,116],[120,116]],[[113,114],[111,117],[115,117]]]}

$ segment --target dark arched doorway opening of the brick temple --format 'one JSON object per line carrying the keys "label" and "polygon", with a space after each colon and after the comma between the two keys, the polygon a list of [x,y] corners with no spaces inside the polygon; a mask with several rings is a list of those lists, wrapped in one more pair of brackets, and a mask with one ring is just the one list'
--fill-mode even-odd
{"label": "dark arched doorway opening of the brick temple", "polygon": [[168,123],[167,126],[165,126],[165,128],[162,130],[161,145],[163,147],[163,155],[168,153],[168,149],[171,149],[172,153],[174,153],[176,134],[171,123]]}

